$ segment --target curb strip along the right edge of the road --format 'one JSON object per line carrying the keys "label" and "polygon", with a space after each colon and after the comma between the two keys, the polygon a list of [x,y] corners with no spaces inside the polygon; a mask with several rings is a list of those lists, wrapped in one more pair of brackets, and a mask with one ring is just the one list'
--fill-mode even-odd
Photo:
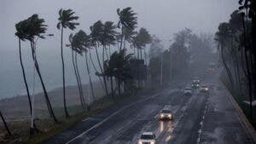
{"label": "curb strip along the right edge of the road", "polygon": [[228,92],[227,97],[232,103],[233,107],[236,109],[236,114],[238,118],[240,119],[241,126],[246,131],[247,135],[249,135],[249,140],[256,144],[256,131],[253,128],[253,125],[249,122],[246,115],[242,112],[241,107],[236,103],[236,100],[234,97],[230,94],[230,91],[224,86],[224,84],[220,83],[224,89]]}

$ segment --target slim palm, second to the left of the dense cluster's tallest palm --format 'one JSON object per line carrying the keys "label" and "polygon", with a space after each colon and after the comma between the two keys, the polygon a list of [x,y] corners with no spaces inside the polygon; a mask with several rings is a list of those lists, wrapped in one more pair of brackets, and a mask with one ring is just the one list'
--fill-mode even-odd
{"label": "slim palm, second to the left of the dense cluster's tallest palm", "polygon": [[[102,42],[103,32],[104,32],[104,25],[102,24],[101,20],[96,21],[96,23],[94,23],[93,26],[90,26],[90,44],[93,45],[96,49],[96,58],[97,58],[97,62],[100,67],[101,73],[103,73],[103,68],[102,68],[102,64],[101,64],[101,60],[99,58],[97,48],[99,47],[100,43]],[[96,72],[96,75],[98,75],[98,73],[99,72]],[[104,82],[104,89],[105,89],[106,95],[108,95],[107,80],[104,77],[103,77],[103,82]]]}

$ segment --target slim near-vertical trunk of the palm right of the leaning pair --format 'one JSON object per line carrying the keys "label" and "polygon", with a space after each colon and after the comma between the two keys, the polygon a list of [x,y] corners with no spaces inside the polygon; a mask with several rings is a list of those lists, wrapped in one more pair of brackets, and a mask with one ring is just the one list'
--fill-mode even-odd
{"label": "slim near-vertical trunk of the palm right of the leaning pair", "polygon": [[67,101],[66,101],[66,84],[65,84],[65,64],[63,58],[63,26],[61,26],[61,64],[62,64],[62,86],[63,86],[63,102],[64,102],[64,111],[66,118],[69,117],[67,112]]}

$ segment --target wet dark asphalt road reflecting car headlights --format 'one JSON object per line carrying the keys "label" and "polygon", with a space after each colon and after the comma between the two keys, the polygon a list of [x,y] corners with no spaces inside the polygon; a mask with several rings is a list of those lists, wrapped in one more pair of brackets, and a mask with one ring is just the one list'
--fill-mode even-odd
{"label": "wet dark asphalt road reflecting car headlights", "polygon": [[[89,126],[79,135],[55,143],[137,144],[145,131],[154,132],[158,144],[253,143],[218,83],[218,76],[210,74],[202,84],[212,84],[208,95],[198,91],[183,95],[183,89],[165,89],[109,112],[104,118],[84,119]],[[164,107],[172,110],[173,121],[158,119]]]}

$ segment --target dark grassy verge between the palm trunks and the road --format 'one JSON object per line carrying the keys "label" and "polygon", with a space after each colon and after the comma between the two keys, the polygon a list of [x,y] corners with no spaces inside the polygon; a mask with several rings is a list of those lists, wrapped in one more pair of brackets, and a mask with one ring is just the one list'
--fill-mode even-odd
{"label": "dark grassy verge between the palm trunks and the road", "polygon": [[[124,101],[128,97],[137,95],[138,91],[140,91],[140,93],[143,93],[143,90],[137,89],[136,91],[132,92],[132,94],[115,96],[114,97],[115,103],[119,101]],[[41,143],[49,139],[49,137],[57,135],[62,131],[72,127],[74,124],[81,122],[84,118],[88,118],[92,115],[96,115],[97,113],[102,112],[103,110],[108,109],[109,107],[112,107],[113,104],[114,104],[113,100],[110,97],[104,96],[102,99],[95,101],[91,105],[90,112],[88,111],[84,112],[81,106],[68,107],[67,108],[68,112],[71,115],[70,118],[64,117],[64,112],[62,107],[55,107],[54,108],[55,115],[58,118],[58,120],[61,122],[60,124],[54,124],[52,118],[38,119],[36,121],[36,124],[38,126],[38,129],[41,132],[31,136],[29,135],[30,134],[29,121],[9,123],[9,128],[10,130],[12,130],[14,136],[9,137],[5,131],[1,131],[4,129],[0,129],[0,143],[21,143],[21,144]],[[48,113],[46,110],[42,110],[41,112],[44,112],[45,114]]]}

